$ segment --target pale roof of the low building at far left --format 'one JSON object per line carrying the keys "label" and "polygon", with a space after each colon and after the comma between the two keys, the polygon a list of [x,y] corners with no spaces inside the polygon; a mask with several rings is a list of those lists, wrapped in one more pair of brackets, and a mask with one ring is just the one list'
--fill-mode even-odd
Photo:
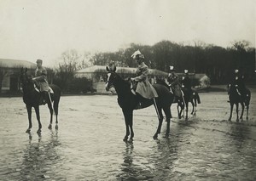
{"label": "pale roof of the low building at far left", "polygon": [[0,59],[0,67],[9,67],[9,68],[17,68],[17,67],[26,67],[26,68],[34,68],[36,67],[35,63],[19,60],[19,59]]}

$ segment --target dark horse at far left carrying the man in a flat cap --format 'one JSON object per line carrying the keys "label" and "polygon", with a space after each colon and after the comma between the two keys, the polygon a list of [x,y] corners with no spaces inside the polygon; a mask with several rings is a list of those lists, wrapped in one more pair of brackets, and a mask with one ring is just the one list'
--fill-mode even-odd
{"label": "dark horse at far left carrying the man in a flat cap", "polygon": [[[40,114],[39,114],[39,100],[40,100],[40,93],[35,89],[34,82],[32,82],[32,76],[27,75],[27,69],[24,71],[23,68],[20,72],[20,82],[22,85],[23,91],[23,102],[26,104],[26,111],[28,115],[28,122],[29,127],[26,130],[26,133],[31,132],[32,128],[32,107],[35,109],[37,120],[38,120],[38,131],[37,133],[41,133],[42,124],[40,122]],[[49,108],[50,112],[50,122],[49,122],[49,129],[52,128],[52,119],[53,119],[53,110],[55,111],[56,122],[55,128],[58,128],[58,110],[59,110],[59,102],[61,99],[61,88],[57,87],[56,85],[49,85],[52,88],[54,93],[50,93],[49,96],[46,96],[46,103]]]}

